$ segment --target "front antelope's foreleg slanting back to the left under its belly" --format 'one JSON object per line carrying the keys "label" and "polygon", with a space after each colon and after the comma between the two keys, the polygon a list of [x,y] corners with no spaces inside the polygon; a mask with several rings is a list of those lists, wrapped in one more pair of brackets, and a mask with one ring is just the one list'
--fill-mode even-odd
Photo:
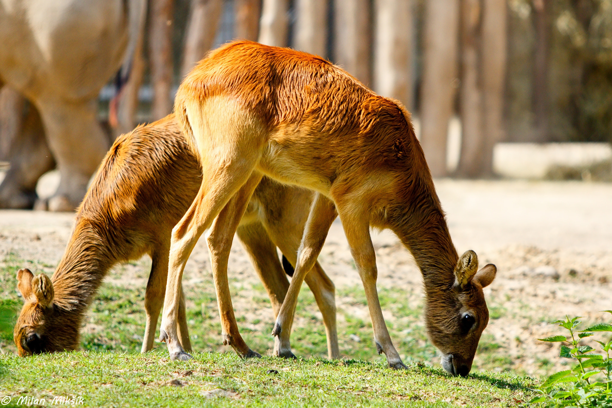
{"label": "front antelope's foreleg slanting back to the left under its belly", "polygon": [[291,324],[296,310],[297,295],[304,278],[313,265],[323,248],[329,227],[337,217],[334,202],[321,194],[316,194],[313,201],[308,221],[304,228],[304,236],[299,251],[297,251],[296,269],[289,284],[289,290],[280,308],[272,335],[274,340],[273,355],[277,357],[295,357],[291,352],[289,336],[291,335]]}

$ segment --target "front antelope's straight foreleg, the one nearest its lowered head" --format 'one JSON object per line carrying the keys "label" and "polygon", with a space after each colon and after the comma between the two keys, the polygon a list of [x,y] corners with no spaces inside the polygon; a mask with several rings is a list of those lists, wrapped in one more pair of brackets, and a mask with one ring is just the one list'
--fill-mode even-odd
{"label": "front antelope's straight foreleg, the one nearest its lowered head", "polygon": [[376,350],[378,354],[384,353],[386,355],[390,368],[406,368],[391,342],[389,330],[387,330],[383,311],[381,310],[381,304],[378,300],[378,291],[376,291],[376,278],[378,277],[376,254],[370,238],[370,224],[367,221],[367,217],[343,218],[342,212],[340,212],[340,220],[345,230],[348,245],[351,247],[351,254],[353,254],[359,276],[364,284],[365,298],[368,301],[372,328],[374,329]]}

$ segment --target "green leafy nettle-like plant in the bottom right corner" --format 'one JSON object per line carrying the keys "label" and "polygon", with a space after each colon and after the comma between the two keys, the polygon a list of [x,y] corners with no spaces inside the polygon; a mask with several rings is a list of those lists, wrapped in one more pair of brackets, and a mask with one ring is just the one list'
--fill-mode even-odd
{"label": "green leafy nettle-like plant in the bottom right corner", "polygon": [[[612,310],[606,310],[612,313]],[[602,353],[591,346],[580,345],[584,338],[594,336],[595,332],[612,332],[612,324],[599,323],[578,330],[580,317],[558,320],[559,327],[569,331],[570,337],[551,336],[540,341],[565,343],[561,345],[560,357],[571,358],[577,362],[572,369],[559,371],[543,382],[537,390],[539,395],[530,402],[544,402],[545,407],[610,407],[612,408],[612,360],[610,349],[612,339],[597,341]]]}

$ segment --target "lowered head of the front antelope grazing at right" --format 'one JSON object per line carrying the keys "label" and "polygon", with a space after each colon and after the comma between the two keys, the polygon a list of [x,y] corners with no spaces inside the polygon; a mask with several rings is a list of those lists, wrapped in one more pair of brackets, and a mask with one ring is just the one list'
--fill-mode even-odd
{"label": "lowered head of the front antelope grazing at right", "polygon": [[474,251],[461,256],[452,287],[428,294],[426,324],[431,343],[442,353],[442,367],[453,376],[467,376],[489,311],[482,288],[488,286],[497,268],[488,264],[478,270]]}

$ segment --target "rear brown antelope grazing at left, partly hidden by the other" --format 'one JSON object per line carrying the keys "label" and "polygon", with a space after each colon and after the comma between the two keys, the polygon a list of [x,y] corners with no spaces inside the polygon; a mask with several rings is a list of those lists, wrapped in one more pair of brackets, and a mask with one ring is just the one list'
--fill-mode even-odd
{"label": "rear brown antelope grazing at left, partly hidden by the other", "polygon": [[[25,300],[14,331],[18,354],[76,349],[84,312],[103,277],[114,264],[143,254],[151,255],[152,267],[144,299],[142,352],[151,350],[166,289],[171,231],[201,182],[198,160],[173,114],[119,137],[78,209],[72,237],[51,279],[45,274],[34,277],[27,269],[18,272],[18,289]],[[289,287],[276,247],[295,264],[312,196],[303,188],[263,179],[237,229],[275,316]],[[307,283],[323,314],[329,357],[337,358],[334,284],[319,265],[313,272]],[[223,283],[215,282],[217,286],[227,286],[224,278]],[[231,303],[222,302],[219,299],[220,307],[229,307],[234,319]],[[178,328],[181,344],[189,350],[182,295]],[[240,335],[230,343],[243,357],[258,355]]]}

